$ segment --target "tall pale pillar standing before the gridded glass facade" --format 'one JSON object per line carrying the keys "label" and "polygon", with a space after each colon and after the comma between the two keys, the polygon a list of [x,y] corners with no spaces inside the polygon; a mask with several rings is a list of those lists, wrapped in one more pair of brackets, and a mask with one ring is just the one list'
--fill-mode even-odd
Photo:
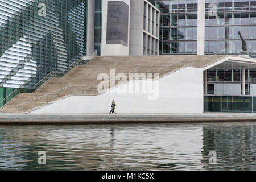
{"label": "tall pale pillar standing before the gridded glass facade", "polygon": [[197,55],[204,55],[205,0],[199,1],[197,11]]}

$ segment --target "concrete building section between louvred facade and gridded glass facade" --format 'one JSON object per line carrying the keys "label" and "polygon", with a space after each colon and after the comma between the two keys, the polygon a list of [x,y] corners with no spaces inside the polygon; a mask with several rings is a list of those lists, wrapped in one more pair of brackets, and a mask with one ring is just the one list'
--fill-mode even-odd
{"label": "concrete building section between louvred facade and gridded glass facade", "polygon": [[160,12],[147,0],[88,1],[87,50],[98,55],[158,55]]}

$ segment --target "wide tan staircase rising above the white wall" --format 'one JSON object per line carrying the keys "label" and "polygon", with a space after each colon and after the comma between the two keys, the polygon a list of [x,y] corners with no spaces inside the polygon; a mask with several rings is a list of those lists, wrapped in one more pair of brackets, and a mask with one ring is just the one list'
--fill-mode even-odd
{"label": "wide tan staircase rising above the white wall", "polygon": [[97,86],[101,82],[97,77],[100,73],[106,73],[110,78],[110,69],[115,69],[115,75],[125,73],[127,77],[128,73],[159,73],[159,77],[163,77],[184,67],[203,68],[224,57],[223,55],[96,56],[86,65],[77,65],[63,77],[50,78],[33,93],[18,94],[1,107],[0,113],[28,113],[72,94],[97,96],[99,94]]}

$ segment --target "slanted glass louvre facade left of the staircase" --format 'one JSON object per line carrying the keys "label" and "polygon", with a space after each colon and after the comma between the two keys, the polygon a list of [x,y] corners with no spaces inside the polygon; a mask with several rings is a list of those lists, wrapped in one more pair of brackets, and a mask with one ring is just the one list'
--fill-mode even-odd
{"label": "slanted glass louvre facade left of the staircase", "polygon": [[1,0],[0,100],[85,55],[85,22],[85,0]]}

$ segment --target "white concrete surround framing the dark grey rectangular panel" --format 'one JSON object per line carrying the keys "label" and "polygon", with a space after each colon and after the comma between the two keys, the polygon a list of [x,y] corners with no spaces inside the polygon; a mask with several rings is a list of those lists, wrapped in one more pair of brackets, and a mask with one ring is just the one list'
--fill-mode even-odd
{"label": "white concrete surround framing the dark grey rectangular panel", "polygon": [[[129,6],[128,20],[128,46],[121,44],[106,44],[107,18],[108,18],[108,2],[123,1]],[[102,56],[128,56],[130,42],[130,0],[104,0],[102,1],[102,39],[101,39],[101,55]]]}

